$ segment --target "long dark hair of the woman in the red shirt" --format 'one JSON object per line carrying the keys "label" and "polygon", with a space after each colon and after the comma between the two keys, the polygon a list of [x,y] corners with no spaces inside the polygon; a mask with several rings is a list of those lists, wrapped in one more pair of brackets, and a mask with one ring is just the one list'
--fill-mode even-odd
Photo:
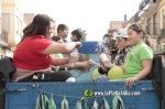
{"label": "long dark hair of the woman in the red shirt", "polygon": [[46,36],[46,28],[50,26],[50,22],[53,21],[46,14],[37,14],[34,17],[32,23],[23,29],[23,41],[28,36],[44,35]]}

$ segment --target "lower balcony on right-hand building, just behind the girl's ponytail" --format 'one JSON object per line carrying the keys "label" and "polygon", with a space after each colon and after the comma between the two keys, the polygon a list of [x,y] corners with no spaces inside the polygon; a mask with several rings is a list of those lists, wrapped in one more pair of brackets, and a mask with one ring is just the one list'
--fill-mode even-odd
{"label": "lower balcony on right-hand building, just behind the girl's ponytail", "polygon": [[158,29],[158,24],[157,23],[150,23],[145,26],[146,33],[151,36],[151,37],[157,37],[160,36],[160,29]]}

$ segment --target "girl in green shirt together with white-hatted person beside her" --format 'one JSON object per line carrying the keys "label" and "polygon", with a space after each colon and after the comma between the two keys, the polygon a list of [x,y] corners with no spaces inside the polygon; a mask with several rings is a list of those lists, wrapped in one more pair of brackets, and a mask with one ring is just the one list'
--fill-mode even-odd
{"label": "girl in green shirt together with white-hatted person beside her", "polygon": [[[152,69],[153,51],[152,42],[143,28],[133,23],[128,28],[128,35],[119,34],[117,42],[118,50],[112,52],[111,64],[105,65],[105,67],[108,69],[114,66],[124,67],[123,78],[116,80],[124,80],[127,86],[132,86],[135,80],[145,79]],[[99,72],[102,72],[102,69],[99,69]],[[98,77],[96,81],[110,80],[107,73],[105,74]]]}

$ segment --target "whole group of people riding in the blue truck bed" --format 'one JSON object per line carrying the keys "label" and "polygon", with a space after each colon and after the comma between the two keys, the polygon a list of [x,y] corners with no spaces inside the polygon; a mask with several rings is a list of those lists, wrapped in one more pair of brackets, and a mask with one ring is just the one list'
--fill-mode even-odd
{"label": "whole group of people riding in the blue truck bed", "polygon": [[[57,35],[51,36],[52,22],[48,15],[37,14],[23,30],[22,40],[13,55],[12,63],[16,72],[12,76],[12,81],[75,81],[75,77],[69,73],[70,68],[84,70],[95,65],[89,55],[79,54],[75,66],[70,67],[69,52],[81,47],[85,36],[76,29],[72,31],[72,42],[66,41],[69,30],[66,24],[59,24]],[[152,69],[153,51],[147,34],[139,23],[131,24],[128,34],[120,33],[117,36],[106,34],[102,41],[109,42],[105,54],[110,64],[105,65],[100,59],[103,69],[99,67],[102,75],[96,81],[110,80],[107,77],[108,70],[114,66],[125,68],[123,78],[118,80],[124,80],[127,86],[146,78]],[[65,53],[67,55],[64,55]]]}

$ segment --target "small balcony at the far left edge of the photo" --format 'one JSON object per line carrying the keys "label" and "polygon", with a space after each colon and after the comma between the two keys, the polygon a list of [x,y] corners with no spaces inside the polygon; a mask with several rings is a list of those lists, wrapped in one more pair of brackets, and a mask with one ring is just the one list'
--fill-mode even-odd
{"label": "small balcony at the far left edge of the photo", "polygon": [[8,32],[2,30],[2,34],[0,34],[0,46],[8,46]]}

